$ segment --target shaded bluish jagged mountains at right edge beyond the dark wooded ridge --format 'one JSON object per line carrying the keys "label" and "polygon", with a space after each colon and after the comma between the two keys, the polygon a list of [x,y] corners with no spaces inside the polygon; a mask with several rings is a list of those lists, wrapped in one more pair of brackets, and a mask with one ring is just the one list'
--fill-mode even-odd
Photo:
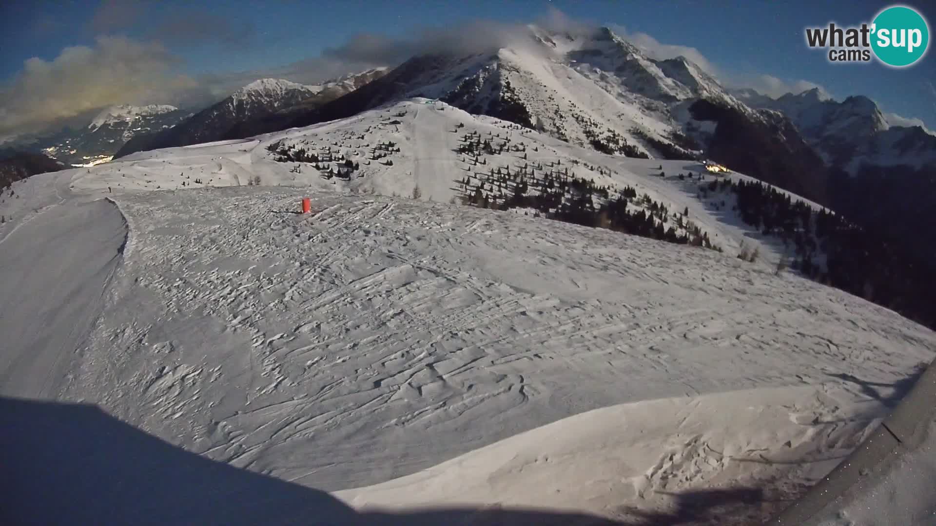
{"label": "shaded bluish jagged mountains at right edge beyond the dark wooded ridge", "polygon": [[936,136],[894,125],[870,98],[838,102],[818,89],[772,99],[736,92],[755,108],[782,112],[830,166],[823,202],[878,239],[936,258]]}

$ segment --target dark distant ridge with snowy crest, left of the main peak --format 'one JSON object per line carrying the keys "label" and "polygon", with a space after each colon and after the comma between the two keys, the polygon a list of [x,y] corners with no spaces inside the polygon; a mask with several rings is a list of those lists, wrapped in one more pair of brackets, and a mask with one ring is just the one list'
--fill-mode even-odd
{"label": "dark distant ridge with snowy crest, left of the main peak", "polygon": [[372,69],[315,85],[282,79],[255,80],[171,128],[128,140],[115,156],[215,140],[242,139],[284,129],[296,113],[352,92],[384,72],[383,68]]}

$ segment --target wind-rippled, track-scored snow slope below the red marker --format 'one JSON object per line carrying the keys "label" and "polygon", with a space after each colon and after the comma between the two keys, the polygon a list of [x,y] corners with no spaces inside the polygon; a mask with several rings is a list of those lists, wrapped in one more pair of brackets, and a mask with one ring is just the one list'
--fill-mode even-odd
{"label": "wind-rippled, track-scored snow slope below the red marker", "polygon": [[[315,216],[285,212],[306,195],[120,197],[133,255],[68,398],[212,460],[333,491],[586,411],[732,391],[755,394],[720,398],[725,415],[783,400],[785,416],[755,420],[802,455],[843,455],[885,414],[857,380],[886,399],[936,346],[867,301],[712,251],[411,199],[320,193]],[[754,404],[762,389],[782,392]],[[797,432],[815,444],[792,446]],[[680,467],[702,467],[693,452],[707,444],[724,453],[717,440],[687,431],[672,461],[637,455],[627,473],[646,485],[607,499],[665,511],[657,492],[719,480]],[[736,456],[756,459],[766,440]],[[793,460],[827,471],[823,459]],[[825,475],[793,460],[759,464],[758,480],[777,477],[789,496]],[[354,495],[366,504],[365,493]],[[567,504],[623,513],[603,499]]]}

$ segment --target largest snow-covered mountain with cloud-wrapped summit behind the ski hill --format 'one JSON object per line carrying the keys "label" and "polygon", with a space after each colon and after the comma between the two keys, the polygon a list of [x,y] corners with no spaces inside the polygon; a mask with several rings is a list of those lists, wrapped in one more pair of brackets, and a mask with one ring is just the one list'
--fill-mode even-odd
{"label": "largest snow-covered mountain with cloud-wrapped summit behind the ski hill", "polygon": [[530,25],[490,47],[413,57],[368,91],[371,104],[351,106],[429,96],[572,144],[652,157],[698,152],[684,136],[699,126],[687,122],[679,104],[715,99],[763,121],[685,57],[653,60],[607,27],[557,32]]}

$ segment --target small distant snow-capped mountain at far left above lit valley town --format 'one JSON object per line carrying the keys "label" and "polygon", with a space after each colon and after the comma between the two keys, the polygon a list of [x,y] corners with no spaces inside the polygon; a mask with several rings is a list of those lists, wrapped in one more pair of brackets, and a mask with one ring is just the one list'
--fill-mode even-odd
{"label": "small distant snow-capped mountain at far left above lit valley town", "polygon": [[67,166],[92,165],[109,161],[127,140],[168,129],[188,115],[168,105],[114,106],[102,110],[86,126],[21,139],[12,146],[49,155]]}

